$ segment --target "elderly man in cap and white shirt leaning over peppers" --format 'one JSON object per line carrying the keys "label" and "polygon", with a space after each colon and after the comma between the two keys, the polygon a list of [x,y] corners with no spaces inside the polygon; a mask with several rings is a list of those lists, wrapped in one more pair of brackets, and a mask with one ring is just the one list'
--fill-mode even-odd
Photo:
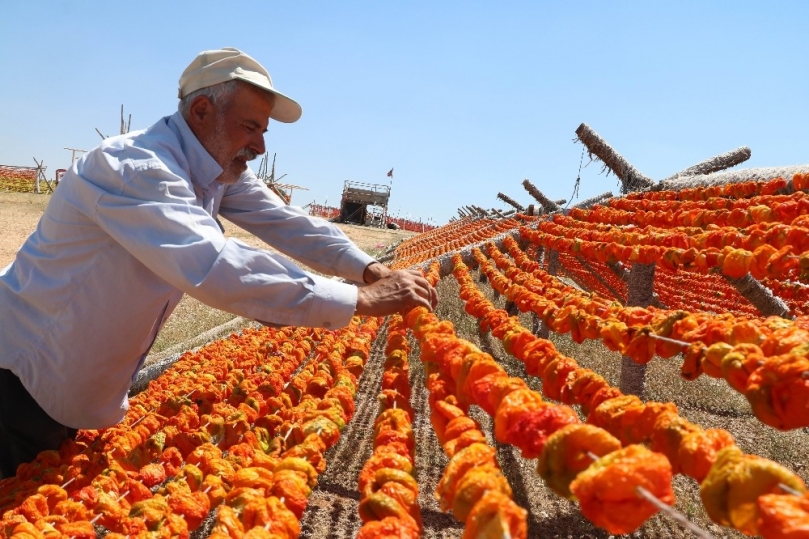
{"label": "elderly man in cap and white shirt leaning over peppers", "polygon": [[[178,112],[113,137],[64,175],[0,271],[0,477],[75,429],[120,421],[182,295],[266,324],[339,328],[354,314],[434,308],[415,271],[390,271],[337,227],[285,206],[250,171],[270,118],[301,107],[243,52],[200,53]],[[226,238],[222,217],[320,273]]]}

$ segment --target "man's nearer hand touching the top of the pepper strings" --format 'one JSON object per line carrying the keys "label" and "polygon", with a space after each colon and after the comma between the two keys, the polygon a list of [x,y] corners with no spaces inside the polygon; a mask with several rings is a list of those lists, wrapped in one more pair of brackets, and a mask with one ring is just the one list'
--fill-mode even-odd
{"label": "man's nearer hand touching the top of the pepper strings", "polygon": [[356,314],[387,316],[414,307],[432,311],[437,305],[438,294],[420,271],[389,270],[374,283],[358,289]]}

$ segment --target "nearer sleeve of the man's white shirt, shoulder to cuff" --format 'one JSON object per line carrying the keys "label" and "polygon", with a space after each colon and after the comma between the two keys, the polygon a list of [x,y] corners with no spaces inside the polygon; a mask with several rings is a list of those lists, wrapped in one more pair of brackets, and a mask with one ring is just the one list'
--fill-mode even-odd
{"label": "nearer sleeve of the man's white shirt, shoulder to cuff", "polygon": [[[96,223],[149,270],[212,307],[247,318],[326,328],[348,324],[356,309],[355,286],[225,238],[188,179],[158,159],[136,163],[122,171],[99,159],[86,188],[96,201]],[[123,181],[110,185],[105,175]]]}

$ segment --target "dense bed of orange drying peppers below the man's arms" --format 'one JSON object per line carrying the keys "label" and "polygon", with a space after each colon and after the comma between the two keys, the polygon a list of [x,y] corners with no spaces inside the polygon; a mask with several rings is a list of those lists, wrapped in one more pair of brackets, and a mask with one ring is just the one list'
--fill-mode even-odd
{"label": "dense bed of orange drying peppers below the man's arms", "polygon": [[[375,319],[355,319],[346,330],[319,335],[315,359],[291,379],[312,350],[309,336],[274,341],[246,330],[231,346],[204,348],[210,362],[180,360],[141,399],[156,408],[136,403],[140,419],[128,428],[84,431],[4,480],[4,499],[15,501],[4,504],[0,537],[95,537],[96,523],[112,530],[110,537],[187,537],[212,507],[214,537],[297,536],[323,452],[353,414],[354,373],[377,327]],[[221,348],[235,359],[225,360]],[[177,392],[178,373],[198,385]],[[169,445],[178,438],[183,443]]]}

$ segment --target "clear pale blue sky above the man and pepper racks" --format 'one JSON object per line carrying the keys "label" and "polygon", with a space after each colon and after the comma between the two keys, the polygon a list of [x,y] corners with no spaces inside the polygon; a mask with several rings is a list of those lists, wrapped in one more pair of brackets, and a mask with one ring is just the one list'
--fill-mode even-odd
{"label": "clear pale blue sky above the man and pepper racks", "polygon": [[[266,137],[277,175],[309,189],[300,206],[391,168],[389,212],[437,224],[503,208],[498,191],[530,203],[525,178],[569,198],[582,122],[654,179],[739,146],[742,167],[804,164],[807,23],[797,1],[4,0],[0,164],[44,159],[50,178],[64,147],[118,133],[122,104],[150,126],[223,46],[303,106]],[[607,190],[599,163],[582,169],[579,199]]]}

